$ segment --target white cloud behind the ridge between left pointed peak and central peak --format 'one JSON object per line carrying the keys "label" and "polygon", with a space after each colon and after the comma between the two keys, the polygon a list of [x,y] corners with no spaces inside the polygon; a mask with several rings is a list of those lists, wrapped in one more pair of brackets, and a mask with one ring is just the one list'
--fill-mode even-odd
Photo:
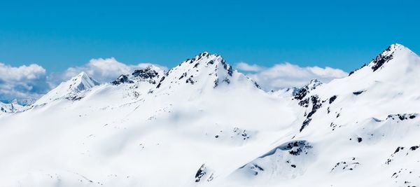
{"label": "white cloud behind the ridge between left pointed peak and central peak", "polygon": [[111,58],[98,58],[92,59],[87,64],[84,64],[81,67],[69,67],[61,74],[52,74],[52,83],[61,83],[73,76],[76,76],[81,71],[85,71],[89,76],[92,76],[95,80],[104,83],[110,82],[118,78],[121,74],[131,74],[136,69],[143,69],[150,65],[158,66],[164,70],[167,70],[166,67],[162,67],[156,64],[151,63],[140,63],[137,65],[124,64],[118,62],[114,57]]}

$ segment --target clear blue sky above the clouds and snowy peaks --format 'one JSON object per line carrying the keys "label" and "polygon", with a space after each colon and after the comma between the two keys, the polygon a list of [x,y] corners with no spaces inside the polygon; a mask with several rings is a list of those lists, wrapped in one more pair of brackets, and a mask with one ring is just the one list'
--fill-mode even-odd
{"label": "clear blue sky above the clouds and snowy peaks", "polygon": [[48,71],[91,58],[173,67],[209,51],[228,62],[351,71],[391,43],[420,53],[419,1],[8,1],[0,62]]}

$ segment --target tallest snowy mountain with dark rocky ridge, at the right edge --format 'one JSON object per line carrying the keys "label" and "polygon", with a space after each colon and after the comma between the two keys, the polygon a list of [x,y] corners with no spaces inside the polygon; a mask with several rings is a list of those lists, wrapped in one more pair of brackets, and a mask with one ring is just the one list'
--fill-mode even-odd
{"label": "tallest snowy mountain with dark rocky ridge, at the right edge", "polygon": [[290,141],[235,176],[286,186],[419,185],[419,66],[416,54],[393,44],[346,78],[300,90],[294,100],[302,114]]}

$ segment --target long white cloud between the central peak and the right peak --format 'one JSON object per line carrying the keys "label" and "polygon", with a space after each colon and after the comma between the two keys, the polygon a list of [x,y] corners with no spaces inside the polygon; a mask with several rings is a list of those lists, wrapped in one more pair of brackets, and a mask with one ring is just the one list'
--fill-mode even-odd
{"label": "long white cloud between the central peak and the right peak", "polygon": [[237,64],[239,70],[252,70],[252,72],[246,72],[246,75],[253,78],[265,90],[300,87],[309,83],[312,78],[317,78],[323,83],[328,83],[334,78],[342,78],[348,75],[348,73],[341,69],[331,67],[299,67],[288,62],[275,64],[273,67],[258,67],[256,65],[248,65],[245,62],[239,64]]}

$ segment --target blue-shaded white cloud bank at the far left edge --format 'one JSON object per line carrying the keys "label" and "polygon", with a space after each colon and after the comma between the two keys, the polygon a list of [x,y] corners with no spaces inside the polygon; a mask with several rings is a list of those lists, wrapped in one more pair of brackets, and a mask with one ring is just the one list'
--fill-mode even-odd
{"label": "blue-shaded white cloud bank at the far left edge", "polygon": [[0,63],[0,100],[38,97],[48,91],[45,72],[38,64],[12,67]]}

